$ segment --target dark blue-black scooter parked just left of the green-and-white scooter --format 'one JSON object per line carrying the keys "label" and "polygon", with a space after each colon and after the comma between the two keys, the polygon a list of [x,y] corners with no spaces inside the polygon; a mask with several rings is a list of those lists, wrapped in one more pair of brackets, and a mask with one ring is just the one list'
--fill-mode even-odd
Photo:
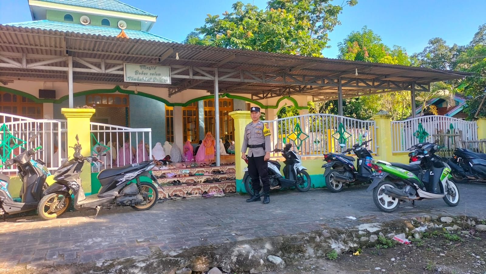
{"label": "dark blue-black scooter parked just left of the green-and-white scooter", "polygon": [[[364,134],[366,137],[367,134]],[[363,141],[361,144],[356,143],[352,148],[347,149],[343,153],[328,153],[324,154],[323,161],[326,164],[322,165],[325,168],[324,177],[326,178],[326,187],[332,192],[340,192],[343,190],[344,184],[350,185],[352,183],[367,183],[370,182],[370,176],[373,172],[371,168],[371,151],[366,147],[372,139]],[[358,157],[358,169],[354,167],[354,157],[347,156],[351,151]]]}

